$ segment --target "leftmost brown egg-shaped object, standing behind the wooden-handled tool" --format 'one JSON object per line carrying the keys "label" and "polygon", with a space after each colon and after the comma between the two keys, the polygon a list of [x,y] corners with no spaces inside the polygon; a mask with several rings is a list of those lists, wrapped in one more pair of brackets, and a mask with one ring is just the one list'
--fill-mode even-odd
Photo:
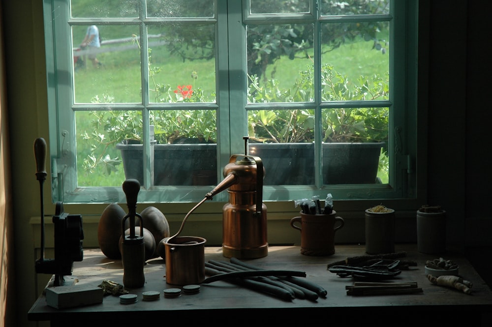
{"label": "leftmost brown egg-shaped object, standing behind the wooden-handled tool", "polygon": [[[102,253],[110,259],[121,259],[118,241],[122,236],[122,222],[126,212],[118,204],[107,206],[101,213],[97,226],[97,241]],[[125,221],[125,229],[129,227]]]}

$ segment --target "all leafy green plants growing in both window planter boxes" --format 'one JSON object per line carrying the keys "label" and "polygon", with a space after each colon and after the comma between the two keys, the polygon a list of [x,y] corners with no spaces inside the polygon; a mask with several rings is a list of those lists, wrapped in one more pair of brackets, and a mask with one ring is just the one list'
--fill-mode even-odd
{"label": "all leafy green plants growing in both window planter boxes", "polygon": [[[288,89],[279,89],[276,80],[260,86],[257,76],[250,76],[249,103],[312,102],[314,97],[313,68],[299,72],[299,78]],[[388,76],[359,77],[351,83],[347,76],[338,73],[332,65],[321,70],[321,98],[329,101],[357,101],[387,99]],[[196,72],[191,77],[197,76]],[[154,95],[159,102],[207,102],[201,88],[191,85],[176,89],[154,83]],[[108,96],[94,96],[93,102],[108,103]],[[292,143],[314,141],[314,109],[276,109],[249,111],[248,130],[252,140],[258,142]],[[84,168],[94,171],[102,167],[111,174],[121,163],[106,151],[123,140],[142,139],[142,113],[140,111],[92,112],[92,133],[83,133],[90,143],[91,154],[84,160]],[[323,109],[323,142],[381,142],[388,140],[389,110],[387,108],[337,108]],[[150,112],[157,143],[216,143],[216,112],[214,110],[159,110]],[[102,130],[102,131],[101,131]],[[97,154],[98,153],[98,154]]]}

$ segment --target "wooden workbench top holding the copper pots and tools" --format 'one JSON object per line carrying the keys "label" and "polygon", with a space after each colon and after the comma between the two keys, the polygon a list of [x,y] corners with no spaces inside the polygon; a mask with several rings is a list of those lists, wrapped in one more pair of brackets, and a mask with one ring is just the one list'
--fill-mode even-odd
{"label": "wooden workbench top holding the copper pots and tools", "polygon": [[[165,282],[165,262],[161,258],[148,261],[144,268],[146,283],[140,289],[129,290],[138,296],[133,304],[120,304],[117,296],[104,297],[103,303],[69,309],[55,309],[40,296],[28,313],[31,321],[51,321],[51,326],[91,326],[97,322],[108,326],[151,326],[181,322],[185,325],[203,323],[206,326],[244,325],[251,323],[342,323],[353,326],[489,326],[492,311],[492,292],[464,256],[445,253],[444,259],[460,266],[460,276],[473,283],[472,294],[431,284],[424,273],[427,260],[438,256],[416,251],[415,244],[397,245],[396,251],[406,252],[406,258],[418,263],[411,270],[403,270],[390,281],[416,281],[423,289],[421,294],[348,296],[345,286],[352,278],[340,278],[327,270],[327,264],[346,257],[364,255],[363,245],[337,245],[336,253],[329,257],[310,257],[300,253],[298,246],[274,246],[265,258],[245,260],[251,265],[266,269],[306,271],[307,280],[328,291],[325,298],[316,301],[295,298],[286,301],[258,293],[225,281],[202,284],[198,294],[183,294],[177,298],[163,297],[163,290],[176,287]],[[228,261],[220,247],[206,247],[205,261]],[[119,260],[106,258],[99,249],[84,249],[84,260],[74,263],[73,275],[78,285],[99,285],[109,279],[123,284],[123,266]],[[143,301],[142,292],[159,291],[156,301]],[[416,325],[417,324],[417,325]],[[420,324],[420,325],[419,325]],[[448,325],[446,325],[448,324]],[[451,325],[449,325],[451,324]],[[388,325],[388,326],[390,326]],[[102,326],[102,325],[97,325]]]}

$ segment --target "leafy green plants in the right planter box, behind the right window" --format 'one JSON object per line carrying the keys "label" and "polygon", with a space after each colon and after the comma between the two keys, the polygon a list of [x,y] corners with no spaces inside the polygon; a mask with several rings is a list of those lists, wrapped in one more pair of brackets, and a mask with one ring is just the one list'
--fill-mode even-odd
{"label": "leafy green plants in the right planter box, behind the right window", "polygon": [[[311,102],[314,98],[312,67],[299,73],[288,89],[279,89],[276,80],[260,86],[256,76],[249,76],[248,102]],[[322,101],[387,99],[388,75],[360,76],[355,83],[338,73],[333,65],[321,68]],[[323,142],[381,142],[388,140],[388,108],[323,109]],[[251,111],[249,135],[260,142],[291,143],[314,141],[314,110],[286,109]]]}

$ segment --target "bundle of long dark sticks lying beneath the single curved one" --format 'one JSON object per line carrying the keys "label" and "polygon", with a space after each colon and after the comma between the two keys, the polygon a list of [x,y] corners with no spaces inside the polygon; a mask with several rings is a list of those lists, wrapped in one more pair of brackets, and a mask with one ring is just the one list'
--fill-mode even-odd
{"label": "bundle of long dark sticks lying beneath the single curved one", "polygon": [[[258,270],[264,269],[251,266],[236,258],[231,258],[230,262],[210,260],[205,263],[205,273],[209,276]],[[270,276],[231,278],[226,281],[289,301],[294,298],[315,301],[318,297],[326,297],[327,294],[327,291],[317,284],[294,276],[276,276],[275,271],[272,271]]]}

